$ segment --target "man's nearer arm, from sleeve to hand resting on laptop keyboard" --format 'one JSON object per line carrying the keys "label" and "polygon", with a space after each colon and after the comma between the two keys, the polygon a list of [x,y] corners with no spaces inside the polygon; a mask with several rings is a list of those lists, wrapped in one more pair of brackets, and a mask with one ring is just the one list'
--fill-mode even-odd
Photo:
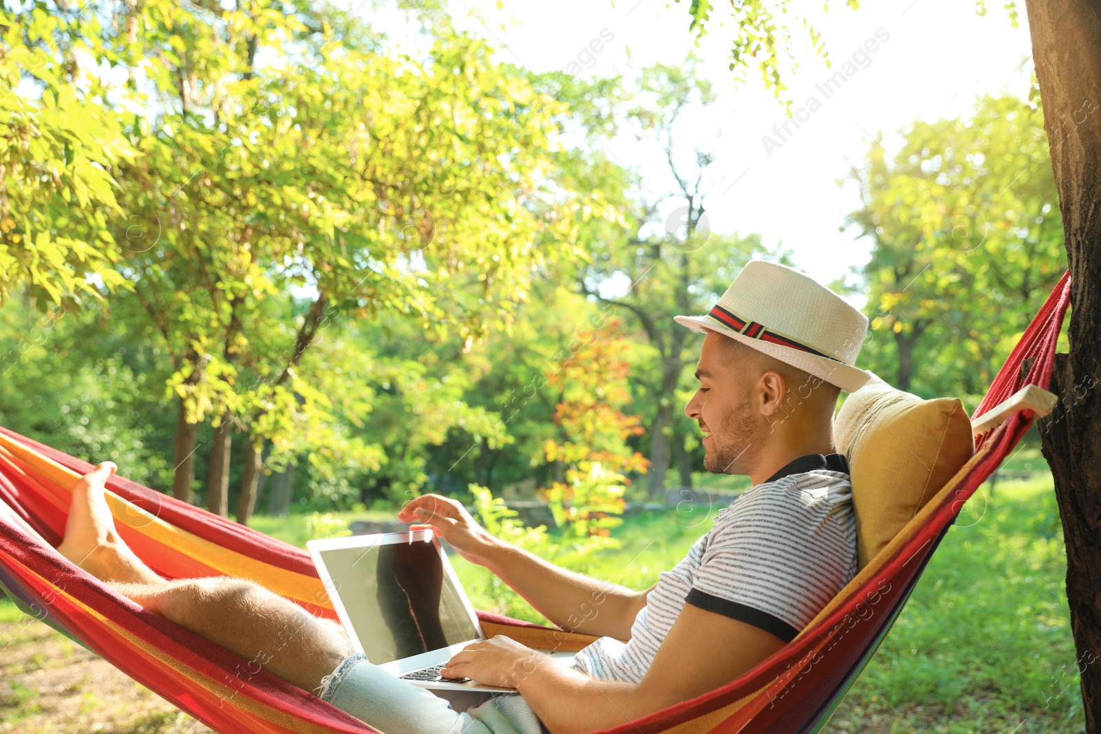
{"label": "man's nearer arm, from sleeve to hand resting on laptop keyboard", "polygon": [[685,604],[642,681],[599,680],[498,635],[442,671],[516,688],[552,734],[611,728],[730,682],[785,645],[759,627]]}

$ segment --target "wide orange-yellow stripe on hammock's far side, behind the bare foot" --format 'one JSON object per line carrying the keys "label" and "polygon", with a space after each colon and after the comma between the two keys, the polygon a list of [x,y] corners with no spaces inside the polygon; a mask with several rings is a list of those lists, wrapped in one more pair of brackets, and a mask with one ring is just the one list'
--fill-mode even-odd
{"label": "wide orange-yellow stripe on hammock's far side, behind the bare foot", "polygon": [[[61,465],[2,434],[0,434],[0,447],[8,449],[17,461],[31,468],[46,480],[46,489],[52,492],[57,487],[72,495],[73,486],[80,479],[80,474],[72,469]],[[48,484],[54,486],[48,486]],[[235,550],[222,548],[216,543],[166,523],[109,490],[106,495],[116,522],[128,525],[170,548],[175,547],[184,556],[194,558],[219,573],[255,581],[283,596],[315,604],[323,609],[333,609],[333,603],[329,601],[320,579],[297,571],[288,571]],[[55,496],[63,495],[55,494]]]}

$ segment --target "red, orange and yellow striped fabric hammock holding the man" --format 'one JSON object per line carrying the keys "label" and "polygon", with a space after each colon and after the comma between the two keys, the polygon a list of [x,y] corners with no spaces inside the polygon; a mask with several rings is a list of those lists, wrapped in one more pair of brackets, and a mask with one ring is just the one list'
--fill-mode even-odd
{"label": "red, orange and yellow striped fabric hammock holding the man", "polygon": [[[978,437],[974,456],[792,643],[719,689],[607,734],[819,731],[898,616],[963,502],[1009,454],[1036,413],[1044,414],[1021,395],[1049,385],[1069,299],[1068,272],[994,379],[972,423],[978,430],[1007,420]],[[984,414],[985,423],[979,418]],[[90,469],[0,428],[0,585],[21,609],[218,732],[374,731],[145,611],[58,555],[54,546],[65,528],[70,487]],[[108,489],[120,535],[157,573],[251,579],[317,616],[336,618],[301,548],[118,475],[108,480]],[[479,617],[487,634],[504,633],[531,646],[573,650],[595,639],[484,612]]]}

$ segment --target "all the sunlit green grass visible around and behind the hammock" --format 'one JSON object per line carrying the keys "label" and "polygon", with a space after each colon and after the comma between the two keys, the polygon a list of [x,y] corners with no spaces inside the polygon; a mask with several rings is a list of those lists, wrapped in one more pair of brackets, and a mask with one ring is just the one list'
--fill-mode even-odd
{"label": "all the sunlit green grass visible around and behind the hammock", "polygon": [[[1022,451],[1013,461],[1024,470],[1037,458]],[[711,527],[718,510],[629,517],[613,533],[619,548],[585,556],[574,567],[645,589]],[[350,521],[386,514],[333,516]],[[254,526],[303,545],[316,527],[310,517],[258,517]],[[476,606],[543,621],[484,569],[457,556],[453,560]],[[893,629],[824,731],[1083,731],[1065,574],[1050,476],[999,480],[993,496],[984,485],[949,529]],[[19,616],[10,602],[0,601],[0,623]],[[32,712],[33,697],[13,689],[0,721]]]}

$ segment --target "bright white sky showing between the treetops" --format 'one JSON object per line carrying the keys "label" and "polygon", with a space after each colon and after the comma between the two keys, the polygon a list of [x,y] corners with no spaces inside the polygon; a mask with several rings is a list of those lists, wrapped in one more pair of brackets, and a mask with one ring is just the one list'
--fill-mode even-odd
{"label": "bright white sky showing between the treetops", "polygon": [[[793,2],[788,15],[813,13],[832,62],[827,69],[793,19],[792,56],[782,56],[788,64],[782,73],[793,111],[803,108],[796,128],[755,69],[735,84],[728,69],[731,30],[719,25],[723,4],[716,3],[696,48],[717,101],[685,112],[675,129],[677,160],[688,167],[696,147],[715,155],[713,175],[705,178],[712,231],[760,232],[766,244],[789,249],[796,266],[821,283],[868,260],[870,242],[854,228],[841,231],[846,215],[861,204],[859,191],[838,179],[862,161],[877,131],[890,153],[901,144],[896,131],[915,119],[967,116],[981,94],[1027,94],[1027,22],[1022,12],[1013,28],[1001,3],[989,3],[979,17],[973,3],[958,0],[865,0],[857,11],[833,0],[828,12],[817,2]],[[584,78],[682,63],[695,48],[687,7],[687,0],[504,0],[499,9],[497,0],[450,0],[448,11],[456,28],[499,47],[502,61]],[[847,61],[853,65],[843,85],[826,88]],[[786,131],[774,130],[785,122]],[[600,144],[639,175],[647,198],[674,190],[654,140],[620,134]],[[662,217],[682,205],[666,201]],[[849,299],[863,304],[860,296]]]}

